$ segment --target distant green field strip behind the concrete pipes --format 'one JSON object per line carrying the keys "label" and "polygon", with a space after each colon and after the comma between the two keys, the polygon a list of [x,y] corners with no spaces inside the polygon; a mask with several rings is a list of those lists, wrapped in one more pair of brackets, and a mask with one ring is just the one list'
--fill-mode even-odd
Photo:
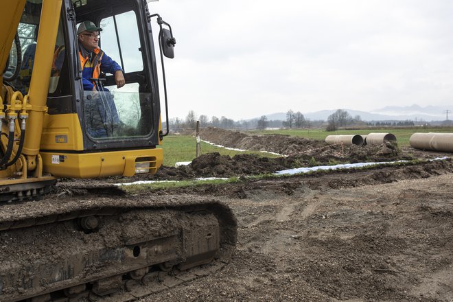
{"label": "distant green field strip behind the concrete pipes", "polygon": [[324,141],[327,135],[368,135],[371,132],[392,133],[397,137],[397,143],[400,147],[409,147],[410,135],[415,132],[453,132],[453,128],[382,128],[382,129],[361,129],[361,130],[337,130],[327,132],[325,130],[313,129],[282,129],[282,130],[255,130],[251,131],[257,134],[279,134],[290,135],[292,137],[305,137],[307,139],[316,139]]}

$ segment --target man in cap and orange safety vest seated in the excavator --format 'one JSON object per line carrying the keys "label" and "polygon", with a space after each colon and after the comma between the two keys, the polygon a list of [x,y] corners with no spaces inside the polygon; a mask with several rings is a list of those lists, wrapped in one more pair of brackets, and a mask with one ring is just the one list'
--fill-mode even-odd
{"label": "man in cap and orange safety vest seated in the excavator", "polygon": [[[121,67],[115,60],[107,56],[99,47],[101,27],[91,21],[80,23],[77,35],[79,43],[80,65],[84,91],[93,91],[93,100],[86,100],[86,120],[88,132],[92,137],[109,137],[123,123],[119,120],[117,108],[108,89],[97,87],[90,79],[97,79],[101,72],[112,73],[115,84],[120,88],[125,80]],[[99,92],[102,91],[101,95]],[[101,102],[102,101],[102,102]]]}

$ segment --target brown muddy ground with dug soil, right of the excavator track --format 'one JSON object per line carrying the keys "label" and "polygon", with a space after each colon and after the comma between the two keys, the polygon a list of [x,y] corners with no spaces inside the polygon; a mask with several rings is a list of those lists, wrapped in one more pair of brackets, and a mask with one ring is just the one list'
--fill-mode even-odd
{"label": "brown muddy ground with dug soil, right of the excavator track", "polygon": [[[247,139],[233,143],[241,141],[242,134],[213,133],[209,138],[207,132],[203,135],[213,143],[246,148]],[[391,144],[341,148],[282,136],[273,136],[277,142],[267,136],[248,139],[257,150],[290,156],[230,159],[205,154],[187,167],[163,167],[156,176],[136,176],[134,180],[245,176],[324,163],[445,156]],[[63,181],[64,190],[55,194],[70,194],[70,183]],[[227,266],[141,302],[451,302],[452,183],[453,161],[447,159],[259,181],[240,178],[233,184],[137,194],[131,198],[159,200],[182,194],[186,200],[215,198],[231,207],[238,224],[237,247]]]}

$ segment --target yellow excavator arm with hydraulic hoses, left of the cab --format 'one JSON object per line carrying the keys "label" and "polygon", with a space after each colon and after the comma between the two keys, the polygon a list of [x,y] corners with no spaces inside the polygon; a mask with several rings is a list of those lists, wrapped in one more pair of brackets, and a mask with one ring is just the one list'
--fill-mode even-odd
{"label": "yellow excavator arm with hydraulic hoses, left of the cab", "polygon": [[[10,47],[16,36],[25,3],[25,0],[17,0],[2,1],[0,4],[1,67],[8,62]],[[3,108],[0,108],[0,117],[4,120],[1,132],[7,133],[8,136],[1,137],[4,152],[0,159],[0,177],[7,178],[2,185],[8,187],[7,191],[19,192],[19,199],[23,191],[30,196],[43,194],[45,188],[55,183],[54,177],[43,176],[43,161],[39,152],[49,87],[49,77],[43,75],[51,71],[61,4],[62,0],[43,1],[38,32],[40,43],[36,45],[34,64],[36,76],[32,77],[28,94],[13,91],[10,86],[3,86],[1,90]],[[18,61],[20,62],[20,58]],[[3,68],[1,72],[3,83]],[[20,141],[19,145],[16,141]],[[10,200],[12,196],[3,196],[4,198]]]}

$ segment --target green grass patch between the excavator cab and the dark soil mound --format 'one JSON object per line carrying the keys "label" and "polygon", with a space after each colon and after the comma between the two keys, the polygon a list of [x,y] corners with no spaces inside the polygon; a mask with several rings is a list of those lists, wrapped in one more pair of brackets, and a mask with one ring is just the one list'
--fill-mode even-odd
{"label": "green grass patch between the excavator cab and the dark soil mound", "polygon": [[[162,146],[163,149],[163,165],[174,167],[178,161],[192,161],[196,157],[196,139],[189,135],[169,135],[164,137]],[[258,152],[258,151],[233,151],[224,148],[212,146],[209,143],[200,142],[201,154],[210,152],[219,152],[222,155],[235,156],[236,154],[257,154],[259,156],[277,157],[276,155]]]}

